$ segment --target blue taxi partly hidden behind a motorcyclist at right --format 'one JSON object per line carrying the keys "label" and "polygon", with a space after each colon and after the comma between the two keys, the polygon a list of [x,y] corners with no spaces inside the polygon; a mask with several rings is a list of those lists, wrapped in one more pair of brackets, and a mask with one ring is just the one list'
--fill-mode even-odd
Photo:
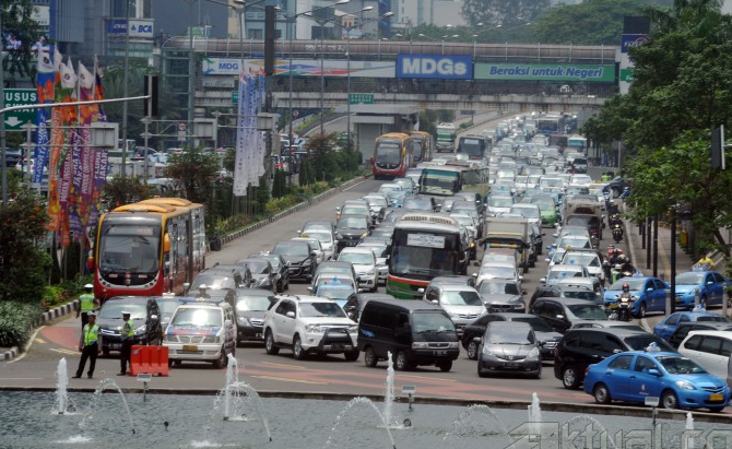
{"label": "blue taxi partly hidden behind a motorcyclist at right", "polygon": [[630,287],[634,299],[630,312],[634,317],[642,318],[647,311],[665,312],[669,284],[652,276],[622,277],[616,281],[605,290],[603,295],[605,307],[617,304],[617,298],[623,293],[623,284],[628,284]]}

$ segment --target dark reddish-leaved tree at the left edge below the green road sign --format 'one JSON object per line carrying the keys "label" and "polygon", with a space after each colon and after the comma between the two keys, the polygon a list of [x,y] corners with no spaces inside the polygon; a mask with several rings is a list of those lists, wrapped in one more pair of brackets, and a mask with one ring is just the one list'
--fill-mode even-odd
{"label": "dark reddish-leaved tree at the left edge below the green road sign", "polygon": [[40,302],[50,265],[40,247],[47,223],[42,199],[9,184],[8,204],[0,208],[0,300]]}

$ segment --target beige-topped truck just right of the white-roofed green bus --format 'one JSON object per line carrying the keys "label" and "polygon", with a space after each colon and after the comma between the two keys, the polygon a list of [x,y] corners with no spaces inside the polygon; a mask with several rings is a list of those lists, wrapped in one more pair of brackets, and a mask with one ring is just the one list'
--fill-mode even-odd
{"label": "beige-topped truck just right of the white-roofed green bus", "polygon": [[523,272],[536,263],[533,229],[528,218],[489,216],[485,218],[483,240],[485,249],[513,248]]}

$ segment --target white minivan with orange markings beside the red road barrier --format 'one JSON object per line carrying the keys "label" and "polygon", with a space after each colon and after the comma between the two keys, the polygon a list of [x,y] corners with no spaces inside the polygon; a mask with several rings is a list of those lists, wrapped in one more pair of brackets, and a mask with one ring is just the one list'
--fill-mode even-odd
{"label": "white minivan with orange markings beside the red road barrier", "polygon": [[223,299],[180,298],[165,330],[163,344],[168,347],[168,364],[182,361],[211,362],[226,366],[228,354],[236,351],[234,308]]}

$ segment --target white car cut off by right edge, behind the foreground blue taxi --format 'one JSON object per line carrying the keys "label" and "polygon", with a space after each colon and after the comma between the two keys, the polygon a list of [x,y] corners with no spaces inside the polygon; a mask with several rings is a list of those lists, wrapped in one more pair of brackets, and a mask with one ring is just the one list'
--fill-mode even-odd
{"label": "white car cut off by right edge, behind the foreground blue taxi", "polygon": [[720,379],[727,379],[732,331],[692,331],[678,345],[678,352]]}

